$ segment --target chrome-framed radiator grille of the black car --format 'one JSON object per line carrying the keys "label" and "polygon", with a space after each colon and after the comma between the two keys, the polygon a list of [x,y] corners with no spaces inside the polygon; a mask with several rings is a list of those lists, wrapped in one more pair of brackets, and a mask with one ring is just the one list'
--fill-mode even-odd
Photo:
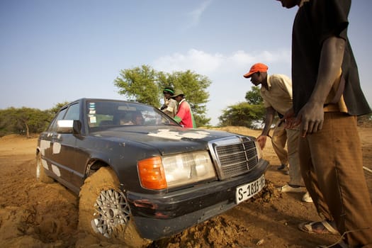
{"label": "chrome-framed radiator grille of the black car", "polygon": [[247,173],[258,163],[256,145],[248,137],[213,141],[211,147],[221,180]]}

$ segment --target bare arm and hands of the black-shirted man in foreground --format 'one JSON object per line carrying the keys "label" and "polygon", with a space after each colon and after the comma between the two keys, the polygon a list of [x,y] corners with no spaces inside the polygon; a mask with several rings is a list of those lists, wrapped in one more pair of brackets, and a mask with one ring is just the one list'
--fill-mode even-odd
{"label": "bare arm and hands of the black-shirted man in foreground", "polygon": [[308,103],[298,112],[295,119],[293,110],[287,111],[283,119],[286,120],[286,128],[300,125],[300,135],[305,137],[308,133],[317,133],[322,130],[324,121],[323,106],[329,91],[332,89],[334,80],[339,74],[344,58],[345,40],[336,36],[327,38],[323,42],[320,54],[320,63],[317,74],[317,82],[312,91]]}

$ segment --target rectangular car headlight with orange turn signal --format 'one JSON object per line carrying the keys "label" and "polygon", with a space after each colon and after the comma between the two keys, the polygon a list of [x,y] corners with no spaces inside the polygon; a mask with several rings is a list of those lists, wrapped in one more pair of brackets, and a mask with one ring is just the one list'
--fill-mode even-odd
{"label": "rectangular car headlight with orange turn signal", "polygon": [[189,152],[153,157],[138,162],[141,184],[145,188],[174,188],[215,177],[208,152]]}

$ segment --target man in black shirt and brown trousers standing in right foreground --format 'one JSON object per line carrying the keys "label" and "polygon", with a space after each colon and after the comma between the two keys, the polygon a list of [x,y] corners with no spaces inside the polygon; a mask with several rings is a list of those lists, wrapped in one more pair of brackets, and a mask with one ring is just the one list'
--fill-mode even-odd
{"label": "man in black shirt and brown trousers standing in right foreground", "polygon": [[[280,0],[299,6],[292,30],[293,109],[300,128],[303,179],[323,221],[298,225],[342,241],[326,247],[372,247],[372,204],[363,171],[356,116],[371,113],[361,90],[347,28],[350,0]],[[293,121],[293,117],[295,117]]]}

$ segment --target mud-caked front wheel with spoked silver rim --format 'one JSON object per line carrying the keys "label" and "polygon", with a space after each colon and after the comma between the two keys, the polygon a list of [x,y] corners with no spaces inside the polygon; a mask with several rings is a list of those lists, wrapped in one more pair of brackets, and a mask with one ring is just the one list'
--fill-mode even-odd
{"label": "mud-caked front wheel with spoked silver rim", "polygon": [[138,234],[119,185],[114,171],[108,167],[101,167],[84,181],[79,193],[79,230],[130,247],[145,247],[150,240]]}

